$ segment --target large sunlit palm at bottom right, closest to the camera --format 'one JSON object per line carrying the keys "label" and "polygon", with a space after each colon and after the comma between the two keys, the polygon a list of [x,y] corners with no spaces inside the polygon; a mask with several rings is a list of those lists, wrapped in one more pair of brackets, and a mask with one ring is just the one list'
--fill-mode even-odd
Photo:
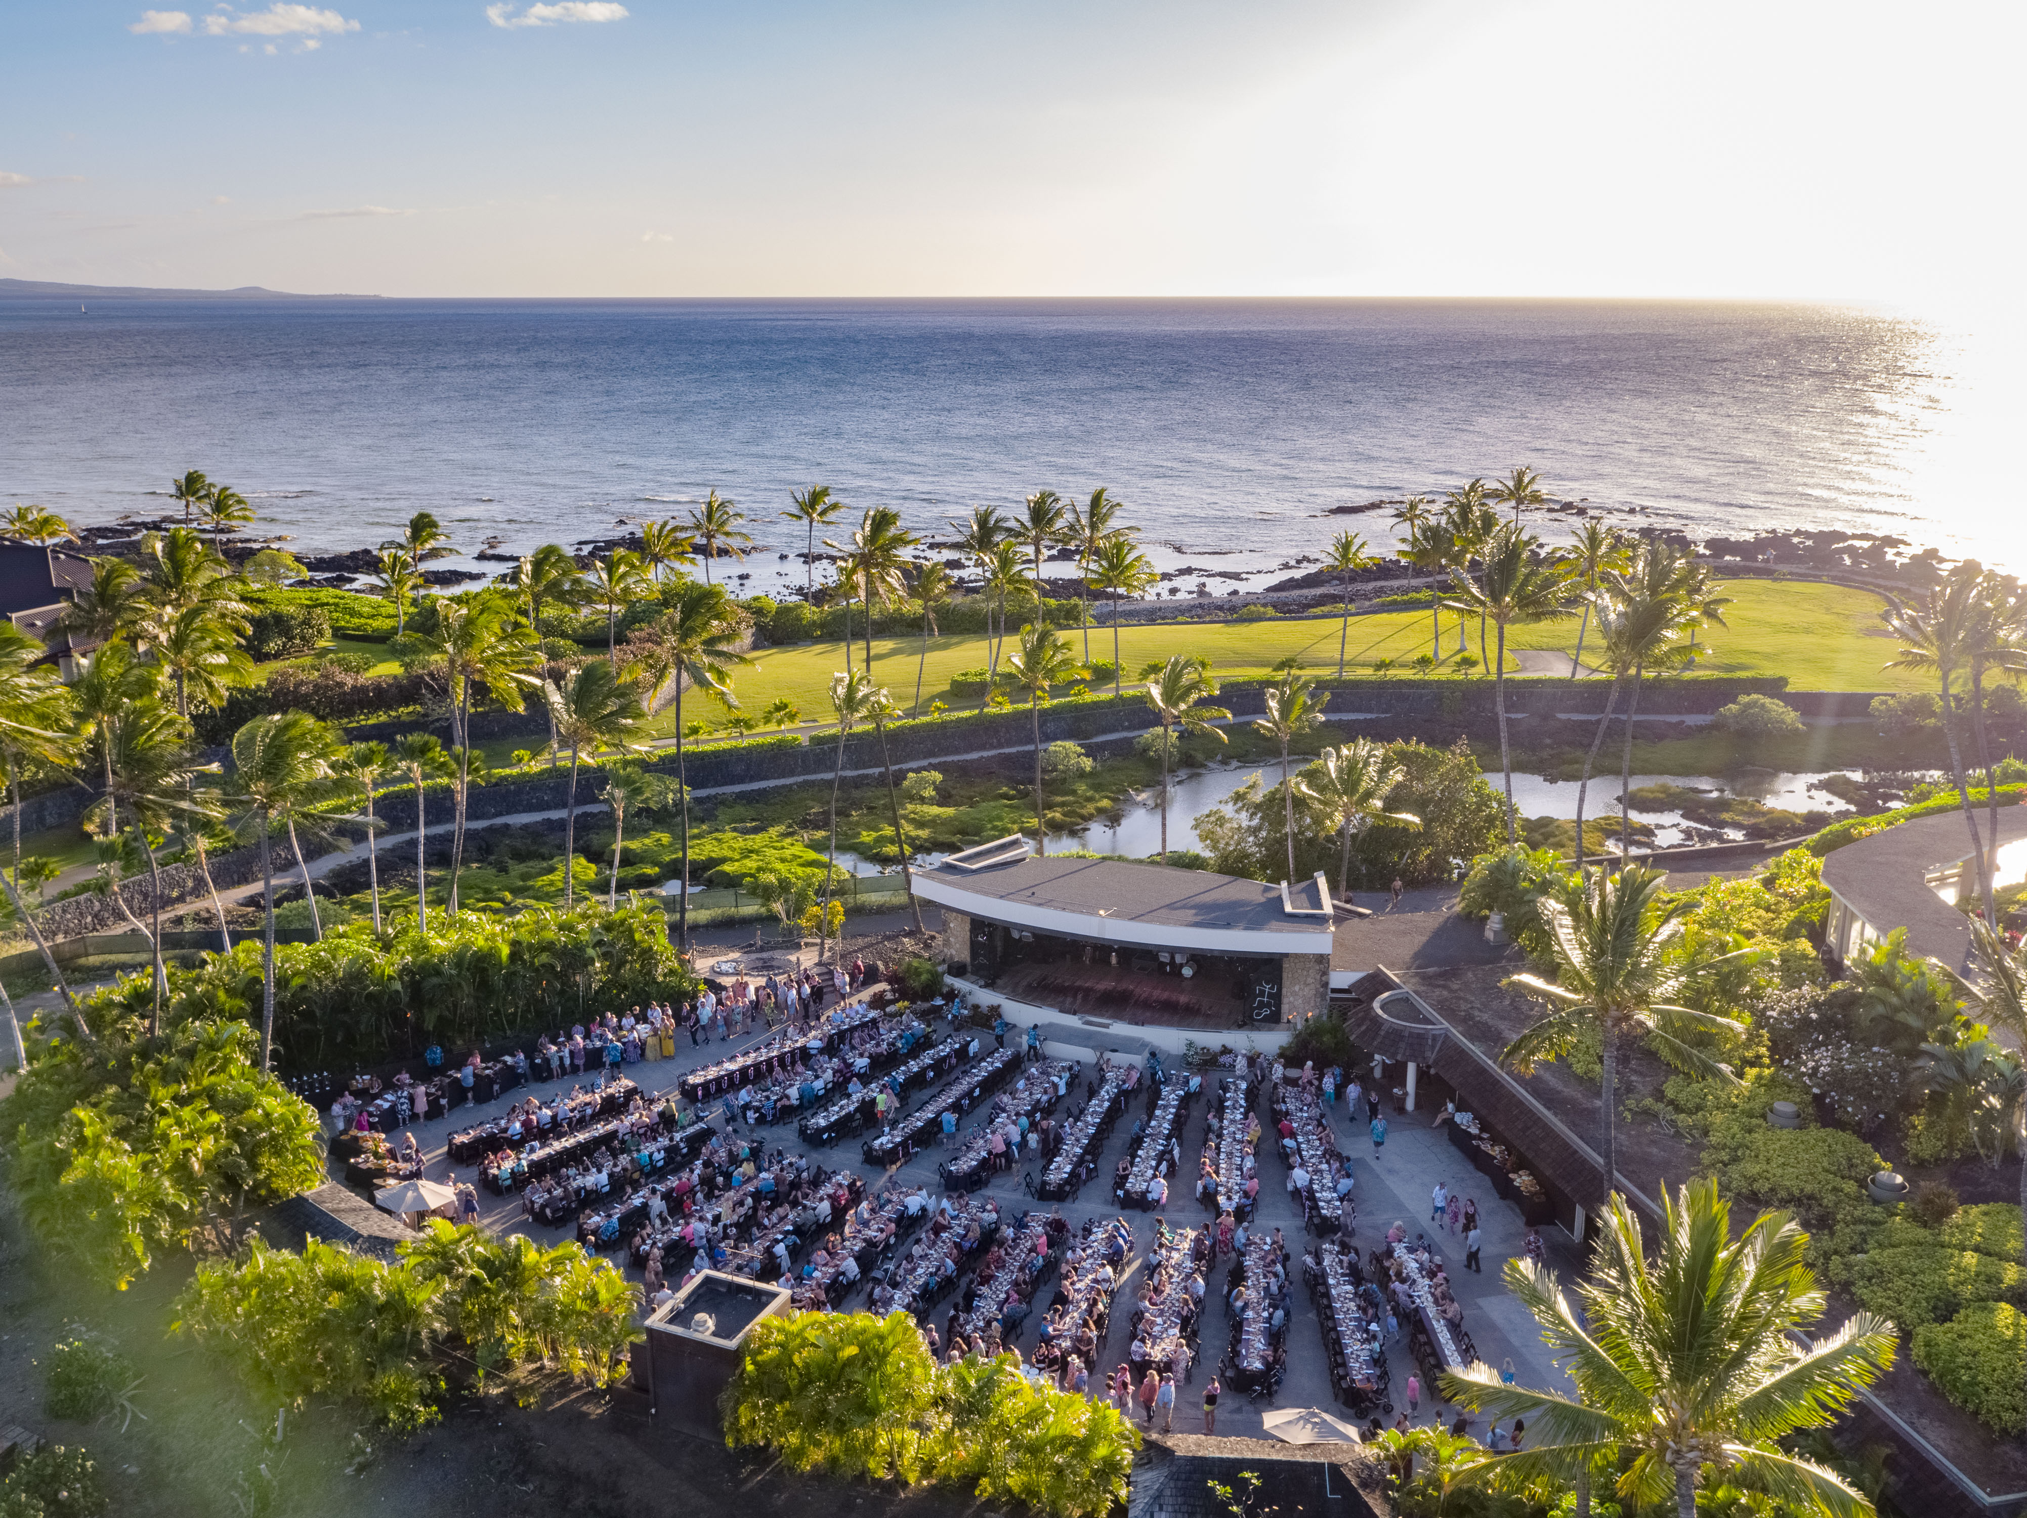
{"label": "large sunlit palm at bottom right, closest to the camera", "polygon": [[1782,1512],[1859,1518],[1873,1504],[1836,1471],[1780,1447],[1796,1429],[1834,1423],[1893,1364],[1893,1325],[1861,1311],[1814,1340],[1824,1309],[1804,1234],[1786,1212],[1761,1212],[1737,1236],[1715,1180],[1662,1194],[1656,1255],[1640,1220],[1611,1196],[1601,1240],[1573,1305],[1553,1271],[1506,1261],[1506,1289],[1541,1323],[1577,1384],[1559,1392],[1506,1386],[1474,1364],[1443,1374],[1443,1394],[1492,1419],[1526,1419],[1528,1445],[1474,1463],[1472,1479],[1575,1484],[1589,1514],[1593,1473],[1616,1473],[1628,1510],[1670,1498],[1695,1518],[1699,1486],[1735,1486]]}

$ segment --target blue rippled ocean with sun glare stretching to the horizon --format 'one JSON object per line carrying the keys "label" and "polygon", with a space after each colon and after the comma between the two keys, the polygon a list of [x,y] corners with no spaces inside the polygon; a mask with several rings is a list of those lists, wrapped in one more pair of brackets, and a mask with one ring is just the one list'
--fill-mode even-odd
{"label": "blue rippled ocean with sun glare stretching to the horizon", "polygon": [[422,509],[460,549],[523,551],[716,488],[768,590],[803,580],[778,513],[811,482],[924,537],[1103,484],[1157,565],[1261,586],[1340,527],[1384,537],[1332,507],[1526,464],[1626,525],[2021,567],[2019,511],[1966,484],[1997,446],[1964,436],[1960,359],[1920,320],[1806,304],[0,300],[0,503],[158,515],[201,468],[298,551]]}

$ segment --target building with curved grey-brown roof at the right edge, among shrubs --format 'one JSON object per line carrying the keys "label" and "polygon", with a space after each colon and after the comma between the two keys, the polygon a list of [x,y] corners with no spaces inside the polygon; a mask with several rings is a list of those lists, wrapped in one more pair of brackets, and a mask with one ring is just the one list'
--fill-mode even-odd
{"label": "building with curved grey-brown roof at the right edge, among shrubs", "polygon": [[[1984,829],[1984,809],[1978,809]],[[1999,809],[1999,886],[2027,880],[2027,807]],[[1970,829],[1950,809],[1881,829],[1832,849],[1822,861],[1830,888],[1824,942],[1849,965],[1895,928],[1907,928],[1907,953],[1960,971],[1970,961],[1970,918],[1960,900],[1978,894]]]}

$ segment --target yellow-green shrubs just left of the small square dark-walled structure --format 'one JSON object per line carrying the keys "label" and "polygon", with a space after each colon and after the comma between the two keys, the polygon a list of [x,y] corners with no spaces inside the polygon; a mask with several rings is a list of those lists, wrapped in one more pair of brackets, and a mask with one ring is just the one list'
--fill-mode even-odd
{"label": "yellow-green shrubs just left of the small square dark-walled structure", "polygon": [[399,1255],[387,1265],[316,1238],[292,1255],[255,1238],[243,1263],[199,1269],[176,1330],[268,1402],[336,1396],[395,1429],[442,1415],[448,1354],[480,1376],[543,1366],[604,1386],[639,1338],[626,1279],[576,1242],[434,1220]]}

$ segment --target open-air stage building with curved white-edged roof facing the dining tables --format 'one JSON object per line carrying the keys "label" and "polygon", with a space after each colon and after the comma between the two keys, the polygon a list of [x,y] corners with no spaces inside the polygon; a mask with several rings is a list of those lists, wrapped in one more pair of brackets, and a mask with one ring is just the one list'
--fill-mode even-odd
{"label": "open-air stage building with curved white-edged roof facing the dining tables", "polygon": [[912,871],[977,985],[1135,1026],[1291,1028],[1330,1001],[1328,882],[1263,884],[1121,859],[1038,859],[1014,835]]}

